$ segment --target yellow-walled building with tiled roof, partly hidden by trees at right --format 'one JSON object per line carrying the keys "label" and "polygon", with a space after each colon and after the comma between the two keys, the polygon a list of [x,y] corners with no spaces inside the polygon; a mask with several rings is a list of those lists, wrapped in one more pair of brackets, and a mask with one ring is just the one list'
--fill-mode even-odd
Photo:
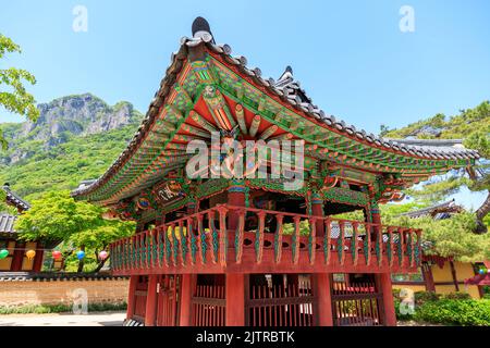
{"label": "yellow-walled building with tiled roof, partly hidden by trees at right", "polygon": [[[411,219],[430,216],[433,220],[451,219],[454,214],[463,212],[464,208],[456,204],[454,199],[412,211],[403,215]],[[421,266],[418,274],[401,274],[393,276],[393,288],[408,288],[414,291],[431,291],[436,294],[467,293],[471,298],[483,296],[478,271],[483,265],[480,262],[461,262],[454,257],[428,254],[431,246],[422,246]],[[481,278],[485,278],[481,276]],[[473,281],[471,281],[473,279]],[[480,284],[481,283],[481,284]]]}

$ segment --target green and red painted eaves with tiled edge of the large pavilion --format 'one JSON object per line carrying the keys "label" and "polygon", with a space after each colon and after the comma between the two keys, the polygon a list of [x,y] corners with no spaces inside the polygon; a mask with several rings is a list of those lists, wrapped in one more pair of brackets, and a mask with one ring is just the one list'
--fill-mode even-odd
{"label": "green and red painted eaves with tiled edge of the large pavilion", "polygon": [[[182,166],[186,158],[172,157],[177,151],[172,141],[188,138],[185,132],[182,136],[181,127],[191,119],[195,105],[203,102],[203,91],[209,85],[228,103],[240,103],[259,115],[262,123],[277,126],[278,133],[305,139],[307,156],[342,167],[393,173],[414,183],[473,165],[479,158],[475,150],[412,145],[356,129],[313,104],[291,67],[278,80],[264,79],[260,70],[248,69],[246,62],[244,57],[232,57],[230,46],[216,45],[210,29],[193,28],[193,37],[182,38],[179,51],[172,53],[160,88],[127,148],[100,178],[72,195],[113,203],[156,184],[163,175],[163,166]],[[191,133],[199,130],[193,127]]]}

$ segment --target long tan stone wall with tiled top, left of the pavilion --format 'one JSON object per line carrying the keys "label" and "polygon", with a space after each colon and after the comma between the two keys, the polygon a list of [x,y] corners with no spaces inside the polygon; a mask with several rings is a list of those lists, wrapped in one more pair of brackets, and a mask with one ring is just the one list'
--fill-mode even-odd
{"label": "long tan stone wall with tiled top, left of the pavilion", "polygon": [[0,307],[72,306],[85,295],[88,303],[120,303],[127,300],[128,285],[127,277],[0,274]]}

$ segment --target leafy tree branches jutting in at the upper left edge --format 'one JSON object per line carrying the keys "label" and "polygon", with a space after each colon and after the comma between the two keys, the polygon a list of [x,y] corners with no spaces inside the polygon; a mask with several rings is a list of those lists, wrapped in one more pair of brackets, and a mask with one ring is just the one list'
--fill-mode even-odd
{"label": "leafy tree branches jutting in at the upper left edge", "polygon": [[[10,38],[0,34],[0,59],[5,53],[21,53],[21,47],[12,41]],[[29,72],[9,67],[0,69],[0,85],[7,86],[7,89],[0,90],[0,105],[8,111],[17,113],[23,116],[27,116],[28,120],[35,122],[39,116],[39,110],[35,105],[34,97],[28,94],[24,87],[24,80],[30,85],[36,84],[36,78]],[[0,146],[3,150],[8,148],[8,142],[3,138],[3,134],[0,129]]]}

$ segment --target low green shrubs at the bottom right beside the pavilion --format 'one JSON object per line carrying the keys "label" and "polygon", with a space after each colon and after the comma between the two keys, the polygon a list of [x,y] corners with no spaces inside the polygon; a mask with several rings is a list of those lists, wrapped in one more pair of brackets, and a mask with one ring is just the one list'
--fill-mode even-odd
{"label": "low green shrubs at the bottom right beside the pavilion", "polygon": [[444,325],[489,326],[490,300],[469,298],[468,294],[455,293],[440,295],[415,293],[415,313],[402,314],[400,311],[400,290],[393,290],[396,318]]}

